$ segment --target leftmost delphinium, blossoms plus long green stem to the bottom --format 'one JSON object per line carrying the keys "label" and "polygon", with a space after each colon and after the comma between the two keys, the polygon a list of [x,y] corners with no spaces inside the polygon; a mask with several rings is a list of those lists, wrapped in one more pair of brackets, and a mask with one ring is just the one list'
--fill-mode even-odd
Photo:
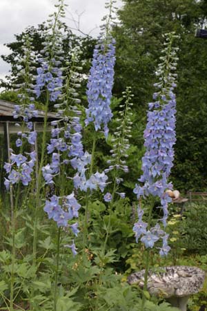
{"label": "leftmost delphinium, blossoms plus long green stem to the bottom", "polygon": [[[16,261],[16,245],[15,245],[15,229],[17,223],[17,209],[21,198],[21,187],[29,186],[34,173],[34,166],[37,160],[34,144],[36,143],[37,133],[34,131],[34,126],[31,122],[32,117],[37,116],[37,111],[34,109],[34,97],[32,96],[32,74],[30,73],[34,55],[32,54],[32,39],[26,35],[24,37],[25,44],[23,45],[23,59],[21,59],[21,71],[19,79],[23,82],[17,84],[15,91],[18,92],[20,100],[19,105],[14,106],[13,117],[18,120],[16,123],[19,129],[17,133],[16,146],[19,153],[16,154],[12,149],[8,150],[9,162],[5,163],[4,169],[8,173],[5,178],[4,185],[10,191],[11,202],[11,227],[12,227],[12,265],[10,276],[10,310],[13,310],[14,304],[14,265]],[[28,147],[28,152],[23,153],[23,145]]]}

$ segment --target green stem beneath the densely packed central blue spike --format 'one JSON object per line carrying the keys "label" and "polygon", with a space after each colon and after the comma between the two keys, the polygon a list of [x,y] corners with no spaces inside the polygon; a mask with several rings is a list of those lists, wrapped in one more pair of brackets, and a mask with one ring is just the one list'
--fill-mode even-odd
{"label": "green stem beneath the densely packed central blue spike", "polygon": [[[90,171],[89,176],[92,175],[93,170],[93,164],[94,164],[94,158],[95,158],[95,147],[96,147],[96,135],[93,136],[93,142],[92,142],[92,152],[91,152],[91,162],[90,162]],[[84,223],[83,223],[83,249],[87,247],[87,236],[88,236],[88,205],[89,205],[89,197],[90,197],[90,190],[87,190],[86,193],[86,210],[85,210],[85,216],[84,216]]]}

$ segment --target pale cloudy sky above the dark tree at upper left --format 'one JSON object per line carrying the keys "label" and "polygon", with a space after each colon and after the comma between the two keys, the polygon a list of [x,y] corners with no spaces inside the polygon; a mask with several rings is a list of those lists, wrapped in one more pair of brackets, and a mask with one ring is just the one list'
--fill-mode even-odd
{"label": "pale cloudy sky above the dark tree at upper left", "polygon": [[[0,0],[0,55],[8,55],[10,50],[3,44],[14,41],[14,34],[19,34],[28,26],[37,26],[46,21],[54,11],[57,0]],[[105,0],[66,0],[66,23],[77,28],[79,19],[82,32],[96,36],[99,33],[101,18],[106,15]],[[121,7],[121,0],[116,6]],[[0,78],[8,75],[10,66],[0,59]]]}

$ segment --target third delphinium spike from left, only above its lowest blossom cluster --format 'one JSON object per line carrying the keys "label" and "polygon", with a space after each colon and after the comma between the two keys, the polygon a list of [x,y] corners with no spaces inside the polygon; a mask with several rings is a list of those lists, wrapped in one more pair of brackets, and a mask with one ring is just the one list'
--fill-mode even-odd
{"label": "third delphinium spike from left, only above its lowest blossom cluster", "polygon": [[[70,161],[72,167],[77,169],[81,161],[80,158],[84,155],[83,144],[81,142],[82,126],[81,119],[79,117],[79,115],[81,115],[81,111],[79,111],[78,107],[75,105],[78,101],[77,91],[75,92],[75,77],[77,73],[73,71],[73,67],[77,67],[76,65],[79,61],[78,56],[78,54],[71,55],[72,62],[74,62],[74,64],[71,65],[71,68],[69,68],[69,66],[66,68],[66,70],[68,70],[68,79],[66,81],[67,88],[65,90],[66,93],[63,93],[60,97],[62,104],[55,104],[57,113],[59,113],[59,107],[61,106],[63,114],[61,115],[61,118],[51,122],[52,126],[57,127],[52,129],[52,138],[50,139],[50,144],[48,144],[47,147],[48,154],[52,154],[52,162],[47,164],[46,167],[43,167],[43,177],[46,183],[53,183],[53,178],[57,175],[57,173],[59,173],[60,167],[70,164]],[[70,84],[72,85],[68,88],[68,85]],[[59,155],[58,161],[57,154]],[[64,160],[61,160],[61,158]],[[76,161],[77,164],[75,165]]]}

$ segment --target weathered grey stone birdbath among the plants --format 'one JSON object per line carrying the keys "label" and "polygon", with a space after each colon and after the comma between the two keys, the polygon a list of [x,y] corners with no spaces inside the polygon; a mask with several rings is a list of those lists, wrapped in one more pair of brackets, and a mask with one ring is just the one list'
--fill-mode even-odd
{"label": "weathered grey stone birdbath among the plants", "polygon": [[[144,272],[145,270],[141,270],[130,274],[128,283],[144,288]],[[159,272],[148,272],[148,292],[151,295],[162,296],[173,307],[186,311],[189,296],[199,292],[204,285],[205,276],[205,272],[197,267],[159,267]]]}

